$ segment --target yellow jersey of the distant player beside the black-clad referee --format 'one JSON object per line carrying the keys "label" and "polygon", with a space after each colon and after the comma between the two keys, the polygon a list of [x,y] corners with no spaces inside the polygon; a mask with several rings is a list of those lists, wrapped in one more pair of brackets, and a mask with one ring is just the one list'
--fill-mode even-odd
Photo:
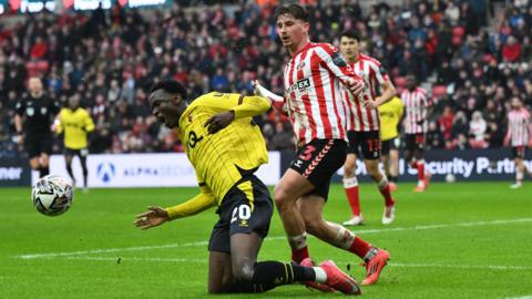
{"label": "yellow jersey of the distant player beside the black-clad referee", "polygon": [[64,131],[64,146],[81,150],[88,146],[86,134],[94,131],[94,123],[86,110],[62,109],[59,113],[58,134]]}

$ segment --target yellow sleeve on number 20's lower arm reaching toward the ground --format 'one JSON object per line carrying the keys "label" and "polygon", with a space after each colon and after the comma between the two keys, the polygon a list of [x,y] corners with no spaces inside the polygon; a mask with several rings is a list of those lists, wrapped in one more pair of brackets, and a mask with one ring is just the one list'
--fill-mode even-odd
{"label": "yellow sleeve on number 20's lower arm reaching toward the ground", "polygon": [[166,208],[171,220],[196,215],[216,205],[216,197],[206,186],[201,186],[201,193],[181,205]]}

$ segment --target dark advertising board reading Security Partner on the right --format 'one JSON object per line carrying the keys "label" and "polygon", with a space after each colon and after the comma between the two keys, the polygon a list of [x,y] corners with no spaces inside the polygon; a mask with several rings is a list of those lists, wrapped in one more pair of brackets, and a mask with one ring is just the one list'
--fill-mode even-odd
{"label": "dark advertising board reading Security Partner on the right", "polygon": [[[282,172],[284,173],[294,159],[293,152],[283,152]],[[525,163],[532,169],[532,153],[529,151]],[[444,181],[452,174],[457,181],[513,181],[515,166],[510,148],[471,150],[471,151],[428,151],[426,153],[426,169],[434,181]],[[368,182],[362,161],[357,161],[356,175],[359,181]],[[418,172],[408,167],[401,158],[399,162],[399,181],[417,181]],[[341,183],[344,169],[339,169],[332,182]]]}

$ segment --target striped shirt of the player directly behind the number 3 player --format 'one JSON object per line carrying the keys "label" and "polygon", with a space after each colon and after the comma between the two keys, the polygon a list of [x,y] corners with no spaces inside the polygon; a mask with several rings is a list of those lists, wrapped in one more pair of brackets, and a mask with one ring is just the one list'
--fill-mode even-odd
{"label": "striped shirt of the player directly behind the number 3 player", "polygon": [[347,130],[348,131],[378,131],[380,128],[379,111],[367,109],[364,101],[375,101],[378,87],[386,83],[388,74],[374,58],[359,54],[356,62],[350,66],[357,75],[364,79],[366,90],[359,96],[354,96],[347,89],[342,91],[347,102]]}

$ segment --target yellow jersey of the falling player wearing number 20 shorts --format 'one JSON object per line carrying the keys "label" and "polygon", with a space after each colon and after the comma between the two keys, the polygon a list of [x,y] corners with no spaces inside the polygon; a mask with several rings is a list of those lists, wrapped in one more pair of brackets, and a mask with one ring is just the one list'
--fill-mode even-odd
{"label": "yellow jersey of the falling player wearing number 20 shorts", "polygon": [[[178,134],[196,171],[201,194],[167,208],[171,219],[219,205],[225,194],[242,179],[242,172],[254,171],[268,162],[263,134],[250,116],[263,114],[269,107],[264,97],[219,92],[194,100],[180,118]],[[207,120],[229,110],[235,112],[235,120],[215,134],[208,134]],[[247,193],[247,187],[241,189]],[[250,205],[253,208],[253,203]]]}

